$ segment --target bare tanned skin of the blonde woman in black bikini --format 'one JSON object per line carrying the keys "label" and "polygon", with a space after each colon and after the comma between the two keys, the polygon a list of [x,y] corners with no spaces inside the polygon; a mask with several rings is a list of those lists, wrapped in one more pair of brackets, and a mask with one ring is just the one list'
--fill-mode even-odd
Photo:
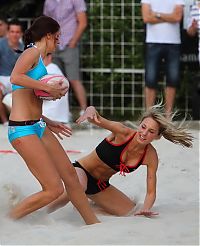
{"label": "bare tanned skin of the blonde woman in black bikini", "polygon": [[[156,172],[158,167],[158,157],[155,148],[151,142],[159,139],[159,125],[152,118],[145,118],[138,131],[124,126],[119,122],[107,120],[100,116],[94,107],[88,107],[83,116],[81,116],[77,123],[88,119],[91,123],[110,130],[111,134],[107,139],[113,144],[121,144],[127,141],[134,133],[135,137],[128,144],[126,151],[123,153],[122,160],[126,166],[134,166],[147,147],[147,152],[143,160],[143,165],[147,167],[147,191],[143,207],[135,212],[135,215],[154,216],[157,213],[151,211],[154,201],[156,199]],[[117,172],[102,162],[97,156],[96,151],[93,150],[90,154],[80,158],[78,162],[96,179],[102,181],[108,180]],[[79,181],[86,190],[87,177],[84,171],[76,168]],[[94,195],[88,195],[97,205],[102,207],[106,212],[122,216],[128,214],[135,206],[125,194],[110,185],[103,192]],[[64,193],[60,198],[49,206],[49,212],[55,211],[57,208],[64,206],[69,201],[67,193]]]}

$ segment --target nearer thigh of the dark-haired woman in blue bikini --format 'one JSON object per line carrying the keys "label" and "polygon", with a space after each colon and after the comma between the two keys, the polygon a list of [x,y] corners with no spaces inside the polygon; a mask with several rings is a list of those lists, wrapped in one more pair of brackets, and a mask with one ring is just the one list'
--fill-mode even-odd
{"label": "nearer thigh of the dark-haired woman in blue bikini", "polygon": [[27,167],[40,182],[43,190],[55,189],[62,185],[61,178],[44,144],[37,135],[17,138],[12,142]]}

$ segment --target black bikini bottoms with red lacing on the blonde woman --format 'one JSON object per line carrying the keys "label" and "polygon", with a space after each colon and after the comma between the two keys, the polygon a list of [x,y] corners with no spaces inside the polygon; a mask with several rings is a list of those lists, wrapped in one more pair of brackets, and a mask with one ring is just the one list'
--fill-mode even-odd
{"label": "black bikini bottoms with red lacing on the blonde woman", "polygon": [[110,186],[109,181],[101,181],[98,179],[95,179],[94,177],[92,177],[87,170],[85,170],[84,167],[81,166],[81,164],[78,161],[75,161],[73,163],[74,167],[79,167],[81,169],[84,170],[86,176],[87,176],[87,190],[85,191],[85,193],[87,195],[94,195],[100,191],[105,190],[106,188],[108,188]]}

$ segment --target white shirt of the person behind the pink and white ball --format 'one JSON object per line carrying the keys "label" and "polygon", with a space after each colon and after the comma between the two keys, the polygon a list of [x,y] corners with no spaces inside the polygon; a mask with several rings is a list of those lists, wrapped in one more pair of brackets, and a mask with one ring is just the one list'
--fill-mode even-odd
{"label": "white shirt of the person behind the pink and white ball", "polygon": [[[60,68],[54,64],[50,63],[46,66],[48,74],[60,74],[63,75]],[[69,100],[68,93],[61,99],[55,101],[43,101],[42,113],[44,116],[51,120],[68,123],[69,122]]]}

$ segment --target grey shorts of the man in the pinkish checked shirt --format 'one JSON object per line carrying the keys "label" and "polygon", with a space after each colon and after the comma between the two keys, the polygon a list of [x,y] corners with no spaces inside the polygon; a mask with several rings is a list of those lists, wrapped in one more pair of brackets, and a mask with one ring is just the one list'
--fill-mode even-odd
{"label": "grey shorts of the man in the pinkish checked shirt", "polygon": [[53,54],[53,62],[60,67],[69,80],[80,80],[79,47],[66,46],[64,50],[56,50]]}

